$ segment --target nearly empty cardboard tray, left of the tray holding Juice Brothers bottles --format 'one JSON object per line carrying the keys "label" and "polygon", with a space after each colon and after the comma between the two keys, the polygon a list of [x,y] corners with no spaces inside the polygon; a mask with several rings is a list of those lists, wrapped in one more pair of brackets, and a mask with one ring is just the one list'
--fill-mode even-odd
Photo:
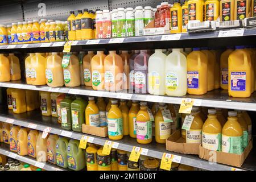
{"label": "nearly empty cardboard tray, left of the tray holding Juice Brothers bottles", "polygon": [[166,140],[166,150],[181,154],[199,155],[199,146],[199,143],[185,143],[185,139],[181,137],[181,130],[176,130]]}

